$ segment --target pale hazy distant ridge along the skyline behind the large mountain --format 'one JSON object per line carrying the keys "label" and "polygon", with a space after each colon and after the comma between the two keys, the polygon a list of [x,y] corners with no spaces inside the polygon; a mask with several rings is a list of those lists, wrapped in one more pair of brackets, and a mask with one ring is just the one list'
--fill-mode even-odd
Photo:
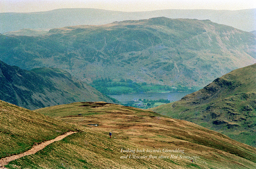
{"label": "pale hazy distant ridge along the skyline behind the large mountain", "polygon": [[115,21],[142,20],[156,17],[211,20],[244,31],[256,30],[256,9],[247,10],[156,10],[120,12],[92,8],[66,8],[46,12],[0,13],[0,33],[24,28],[52,29],[75,25],[101,25]]}

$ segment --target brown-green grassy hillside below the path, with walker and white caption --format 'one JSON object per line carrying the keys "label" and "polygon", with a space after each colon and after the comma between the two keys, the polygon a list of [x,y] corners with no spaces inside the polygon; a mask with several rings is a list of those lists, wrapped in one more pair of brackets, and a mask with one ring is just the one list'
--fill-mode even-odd
{"label": "brown-green grassy hillside below the path, with walker and white caption", "polygon": [[[108,104],[78,102],[36,110],[78,125],[80,132],[47,146],[35,155],[12,161],[23,168],[199,168],[246,169],[256,165],[256,149],[196,124],[151,111]],[[78,115],[82,114],[82,115]],[[98,124],[99,126],[89,126]],[[109,139],[108,132],[112,132]],[[120,159],[121,149],[184,149],[200,159]],[[132,154],[132,153],[131,153]],[[254,161],[254,162],[253,162]]]}

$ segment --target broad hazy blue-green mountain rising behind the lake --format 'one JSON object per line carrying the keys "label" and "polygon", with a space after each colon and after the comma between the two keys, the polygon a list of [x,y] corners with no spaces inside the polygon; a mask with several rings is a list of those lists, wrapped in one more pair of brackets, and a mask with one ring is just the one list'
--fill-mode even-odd
{"label": "broad hazy blue-green mountain rising behind the lake", "polygon": [[256,36],[210,20],[152,18],[0,35],[0,59],[22,69],[58,67],[83,80],[203,87],[256,62]]}

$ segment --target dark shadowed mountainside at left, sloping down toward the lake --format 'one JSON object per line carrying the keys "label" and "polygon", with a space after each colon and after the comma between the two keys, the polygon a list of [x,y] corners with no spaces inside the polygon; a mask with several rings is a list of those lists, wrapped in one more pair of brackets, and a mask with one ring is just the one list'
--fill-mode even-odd
{"label": "dark shadowed mountainside at left, sloping down toward the lake", "polygon": [[54,68],[22,70],[0,61],[0,99],[36,109],[76,101],[107,101],[110,98]]}

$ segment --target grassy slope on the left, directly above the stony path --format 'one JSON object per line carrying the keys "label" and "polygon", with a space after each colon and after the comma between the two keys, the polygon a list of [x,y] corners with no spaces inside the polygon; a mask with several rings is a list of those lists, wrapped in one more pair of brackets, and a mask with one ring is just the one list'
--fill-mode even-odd
{"label": "grassy slope on the left, directly above the stony path", "polygon": [[75,131],[74,125],[0,100],[0,158],[22,153],[34,143],[69,130]]}

